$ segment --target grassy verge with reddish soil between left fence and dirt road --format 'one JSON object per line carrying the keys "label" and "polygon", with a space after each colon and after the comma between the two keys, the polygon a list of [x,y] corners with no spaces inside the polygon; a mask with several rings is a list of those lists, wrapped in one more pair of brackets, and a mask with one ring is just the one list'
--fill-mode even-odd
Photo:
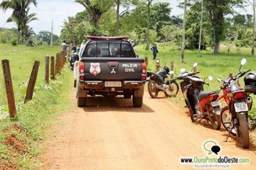
{"label": "grassy verge with reddish soil between left fence and dirt road", "polygon": [[69,109],[67,95],[72,80],[71,71],[63,69],[57,80],[37,86],[33,100],[20,107],[14,120],[1,120],[0,169],[36,169],[39,166],[39,141],[46,137],[52,120]]}

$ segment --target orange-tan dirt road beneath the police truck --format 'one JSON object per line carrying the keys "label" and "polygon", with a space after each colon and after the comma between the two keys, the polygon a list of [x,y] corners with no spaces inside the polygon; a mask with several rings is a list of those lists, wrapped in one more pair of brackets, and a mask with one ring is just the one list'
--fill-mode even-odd
{"label": "orange-tan dirt road beneath the police truck", "polygon": [[236,137],[223,142],[224,129],[214,131],[204,121],[191,123],[187,109],[175,99],[151,99],[145,91],[142,108],[123,98],[92,98],[88,107],[79,108],[75,91],[70,97],[74,112],[63,114],[53,127],[43,169],[193,169],[180,158],[216,157],[203,147],[212,140],[221,147],[219,156],[251,158],[250,164],[233,164],[232,169],[256,169],[252,143],[250,150],[243,150]]}

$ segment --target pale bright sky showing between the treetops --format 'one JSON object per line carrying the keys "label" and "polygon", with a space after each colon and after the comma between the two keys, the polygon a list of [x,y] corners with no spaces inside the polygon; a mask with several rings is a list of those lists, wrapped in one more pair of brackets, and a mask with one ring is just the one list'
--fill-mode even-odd
{"label": "pale bright sky showing between the treetops", "polygon": [[[2,0],[0,0],[1,2]],[[158,0],[168,1],[168,0]],[[169,0],[172,7],[171,16],[182,14],[183,11],[177,7],[178,0]],[[157,2],[157,1],[154,1]],[[84,7],[80,3],[75,3],[74,0],[37,0],[37,7],[31,5],[30,13],[36,13],[38,20],[32,21],[29,26],[33,28],[35,33],[39,31],[51,31],[53,20],[53,33],[61,35],[63,22],[68,16],[76,16],[78,12],[82,12]],[[16,28],[14,22],[7,23],[6,20],[12,14],[11,10],[3,12],[0,10],[0,27]]]}

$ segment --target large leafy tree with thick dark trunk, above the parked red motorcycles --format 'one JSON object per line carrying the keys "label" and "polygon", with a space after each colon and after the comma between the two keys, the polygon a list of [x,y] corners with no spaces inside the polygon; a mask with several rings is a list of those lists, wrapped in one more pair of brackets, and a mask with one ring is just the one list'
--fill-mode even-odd
{"label": "large leafy tree with thick dark trunk, above the parked red motorcycles", "polygon": [[212,24],[213,54],[219,54],[220,42],[225,39],[226,23],[224,16],[232,14],[234,7],[242,7],[243,0],[205,0],[205,4]]}

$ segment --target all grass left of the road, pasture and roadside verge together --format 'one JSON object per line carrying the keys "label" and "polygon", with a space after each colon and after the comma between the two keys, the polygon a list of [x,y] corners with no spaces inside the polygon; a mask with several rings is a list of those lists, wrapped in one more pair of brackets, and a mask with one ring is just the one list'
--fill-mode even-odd
{"label": "all grass left of the road, pasture and roadside verge together", "polygon": [[[16,52],[12,52],[16,50]],[[44,83],[44,56],[55,56],[58,47],[39,46],[10,46],[0,44],[0,58],[10,60],[14,95],[16,98],[17,116],[14,120],[5,118],[0,120],[0,167],[7,165],[14,169],[36,169],[40,161],[37,156],[42,150],[39,142],[48,134],[48,127],[61,112],[69,110],[69,90],[73,88],[73,74],[64,67],[56,80]],[[33,67],[33,62],[40,61],[39,72],[33,100],[23,104],[27,82]],[[1,69],[0,80],[3,82]],[[1,83],[0,115],[7,112],[7,99],[4,84]],[[20,127],[20,130],[11,128]],[[7,130],[6,130],[7,129]],[[6,144],[7,137],[15,137],[18,148],[24,150],[19,153],[16,145]]]}

